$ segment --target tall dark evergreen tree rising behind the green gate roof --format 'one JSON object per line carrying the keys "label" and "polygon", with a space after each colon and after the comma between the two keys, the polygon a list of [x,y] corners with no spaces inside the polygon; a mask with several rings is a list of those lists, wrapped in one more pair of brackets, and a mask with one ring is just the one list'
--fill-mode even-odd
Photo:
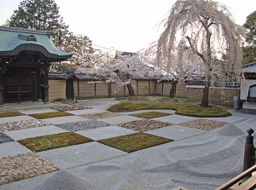
{"label": "tall dark evergreen tree rising behind the green gate roof", "polygon": [[24,0],[6,21],[6,26],[51,32],[56,46],[59,37],[66,35],[68,26],[59,15],[59,7],[54,0]]}

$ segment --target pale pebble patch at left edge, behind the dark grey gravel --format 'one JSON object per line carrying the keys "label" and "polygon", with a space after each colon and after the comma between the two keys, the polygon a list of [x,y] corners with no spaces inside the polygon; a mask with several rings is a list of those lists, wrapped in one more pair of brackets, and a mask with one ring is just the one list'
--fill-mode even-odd
{"label": "pale pebble patch at left edge, behind the dark grey gravel", "polygon": [[38,119],[24,120],[19,122],[9,122],[9,123],[0,124],[0,131],[5,132],[9,130],[23,130],[23,129],[29,129],[29,128],[35,128],[35,127],[43,127],[46,125],[49,125],[49,124]]}

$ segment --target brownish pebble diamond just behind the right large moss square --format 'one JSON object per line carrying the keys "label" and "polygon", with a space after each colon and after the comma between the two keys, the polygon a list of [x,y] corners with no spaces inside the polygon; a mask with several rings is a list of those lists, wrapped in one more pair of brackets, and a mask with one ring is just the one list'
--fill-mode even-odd
{"label": "brownish pebble diamond just behind the right large moss square", "polygon": [[127,123],[118,124],[120,127],[124,127],[129,130],[137,130],[140,132],[147,131],[147,130],[155,130],[162,127],[167,127],[172,124],[161,122],[161,121],[154,121],[152,119],[143,119],[137,121],[131,121]]}

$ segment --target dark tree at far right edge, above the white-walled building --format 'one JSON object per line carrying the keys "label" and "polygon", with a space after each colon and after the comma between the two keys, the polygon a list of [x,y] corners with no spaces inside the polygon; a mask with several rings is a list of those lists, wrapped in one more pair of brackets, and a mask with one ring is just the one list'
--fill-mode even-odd
{"label": "dark tree at far right edge, above the white-walled building", "polygon": [[256,61],[256,11],[247,16],[246,23],[243,25],[247,28],[246,43],[243,45],[243,64]]}

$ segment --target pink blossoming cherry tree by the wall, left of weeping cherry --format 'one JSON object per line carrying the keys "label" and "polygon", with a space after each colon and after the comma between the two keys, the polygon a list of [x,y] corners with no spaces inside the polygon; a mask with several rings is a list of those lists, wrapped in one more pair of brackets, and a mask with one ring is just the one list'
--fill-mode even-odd
{"label": "pink blossoming cherry tree by the wall, left of weeping cherry", "polygon": [[[144,78],[145,76],[154,76],[158,72],[154,72],[153,67],[147,66],[141,55],[117,51],[114,56],[102,56],[102,62],[98,61],[92,69],[81,65],[76,72],[87,72],[102,77],[100,81],[92,81],[91,83],[107,83],[108,87],[111,83],[116,83],[117,90],[126,86],[129,96],[134,96],[134,85],[136,78]],[[110,88],[108,88],[110,89]],[[111,96],[108,94],[108,96]]]}

